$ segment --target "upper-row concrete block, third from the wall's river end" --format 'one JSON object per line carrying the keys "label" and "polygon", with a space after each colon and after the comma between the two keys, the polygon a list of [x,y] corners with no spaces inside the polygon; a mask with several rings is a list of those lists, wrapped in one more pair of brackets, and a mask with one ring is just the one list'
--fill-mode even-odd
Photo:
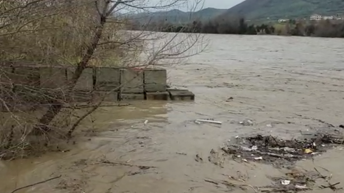
{"label": "upper-row concrete block, third from the wall's river end", "polygon": [[[98,91],[112,91],[118,88],[120,83],[120,68],[100,67],[96,68],[95,88]],[[116,91],[119,89],[116,89]]]}

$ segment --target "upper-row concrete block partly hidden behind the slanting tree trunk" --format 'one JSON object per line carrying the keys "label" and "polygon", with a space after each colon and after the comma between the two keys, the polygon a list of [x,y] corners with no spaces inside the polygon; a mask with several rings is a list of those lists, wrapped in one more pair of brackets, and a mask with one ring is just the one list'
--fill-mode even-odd
{"label": "upper-row concrete block partly hidden behind the slanting tree trunk", "polygon": [[[68,81],[70,81],[73,78],[74,71],[75,68],[67,68]],[[93,90],[93,68],[84,69],[74,89],[79,91]]]}

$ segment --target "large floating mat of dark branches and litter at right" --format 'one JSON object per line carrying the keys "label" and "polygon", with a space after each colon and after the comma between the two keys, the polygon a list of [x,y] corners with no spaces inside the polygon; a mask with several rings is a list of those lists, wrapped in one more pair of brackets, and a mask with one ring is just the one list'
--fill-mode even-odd
{"label": "large floating mat of dark branches and litter at right", "polygon": [[221,150],[236,161],[258,161],[276,167],[309,159],[329,148],[344,144],[342,134],[316,133],[304,139],[283,140],[260,134],[253,137],[236,138]]}

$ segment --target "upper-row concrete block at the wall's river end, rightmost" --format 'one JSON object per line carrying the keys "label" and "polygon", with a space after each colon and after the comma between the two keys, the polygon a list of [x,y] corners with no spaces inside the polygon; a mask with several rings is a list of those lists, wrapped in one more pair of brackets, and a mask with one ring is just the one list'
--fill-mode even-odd
{"label": "upper-row concrete block at the wall's river end, rightmost", "polygon": [[167,71],[162,68],[144,70],[144,90],[146,92],[163,92],[167,89]]}

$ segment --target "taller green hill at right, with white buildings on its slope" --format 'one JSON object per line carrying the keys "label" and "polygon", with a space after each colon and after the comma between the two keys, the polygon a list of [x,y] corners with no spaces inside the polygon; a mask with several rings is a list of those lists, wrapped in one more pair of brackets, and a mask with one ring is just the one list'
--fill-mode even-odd
{"label": "taller green hill at right, with white buildings on its slope", "polygon": [[250,20],[308,18],[311,14],[344,13],[344,0],[245,0],[224,15],[240,15]]}

